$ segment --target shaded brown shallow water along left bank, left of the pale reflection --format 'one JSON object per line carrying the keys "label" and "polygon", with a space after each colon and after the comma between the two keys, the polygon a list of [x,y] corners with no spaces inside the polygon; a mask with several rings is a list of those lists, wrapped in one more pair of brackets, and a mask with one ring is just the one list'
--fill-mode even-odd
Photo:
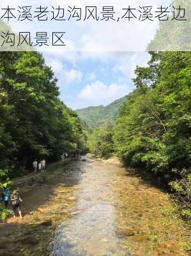
{"label": "shaded brown shallow water along left bank, left of the pale reflection", "polygon": [[[59,172],[55,173],[55,176],[54,172],[50,172],[51,170],[46,173],[50,179],[31,186],[29,191],[24,191],[24,188],[20,189],[24,219],[10,218],[5,223],[0,223],[0,256],[50,255],[51,248],[49,247],[50,251],[47,249],[50,239],[54,236],[57,223],[60,218],[68,220],[72,218],[67,211],[75,206],[75,201],[65,207],[61,207],[63,202],[57,203],[60,200],[59,196],[62,195],[62,191],[59,192],[59,189],[66,190],[63,195],[71,197],[73,189],[81,179],[79,170],[73,168],[72,164],[66,169],[60,163],[53,170],[56,168],[59,169]],[[58,205],[56,209],[51,208],[54,201]],[[47,205],[51,208],[47,209],[48,212],[46,212]],[[56,212],[58,212],[57,215]],[[67,248],[69,247],[68,245]]]}

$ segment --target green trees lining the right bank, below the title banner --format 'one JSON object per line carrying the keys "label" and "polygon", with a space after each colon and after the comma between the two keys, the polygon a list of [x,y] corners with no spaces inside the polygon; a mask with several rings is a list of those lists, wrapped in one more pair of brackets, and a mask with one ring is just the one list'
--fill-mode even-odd
{"label": "green trees lining the right bank, below the title banner", "polygon": [[153,173],[190,207],[191,54],[150,56],[148,67],[136,68],[137,89],[126,98],[114,126],[95,129],[89,149],[102,157],[114,153],[126,165]]}

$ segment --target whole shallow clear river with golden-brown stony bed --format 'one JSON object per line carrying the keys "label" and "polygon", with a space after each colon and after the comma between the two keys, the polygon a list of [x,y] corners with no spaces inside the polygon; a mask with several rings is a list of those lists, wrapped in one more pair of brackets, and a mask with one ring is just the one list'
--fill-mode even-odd
{"label": "whole shallow clear river with golden-brown stony bed", "polygon": [[103,161],[57,164],[0,225],[0,256],[189,255],[164,191]]}

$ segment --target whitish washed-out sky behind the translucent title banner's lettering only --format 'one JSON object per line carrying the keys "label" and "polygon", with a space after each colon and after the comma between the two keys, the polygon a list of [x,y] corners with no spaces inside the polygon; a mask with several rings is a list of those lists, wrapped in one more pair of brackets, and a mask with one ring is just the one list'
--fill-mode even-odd
{"label": "whitish washed-out sky behind the translucent title banner's lettering only", "polygon": [[[1,2],[2,0],[0,0]],[[164,3],[169,5],[170,0],[146,0],[144,4],[148,6],[153,6],[153,9],[157,6],[163,5]],[[11,2],[9,0],[9,2]],[[18,2],[18,1],[17,1]],[[33,0],[33,6],[39,6],[39,1]],[[76,22],[75,20],[69,20],[65,22],[52,22],[48,20],[47,22],[38,22],[34,20],[33,22],[16,22],[16,20],[11,20],[10,25],[13,26],[15,31],[25,31],[29,29],[32,33],[35,33],[39,29],[47,29],[47,32],[51,34],[51,31],[65,31],[66,33],[66,47],[55,47],[57,52],[61,51],[145,51],[148,43],[153,39],[155,32],[158,28],[158,20],[151,22],[150,20],[145,20],[140,22],[139,19],[132,20],[128,22],[128,19],[120,20],[116,22],[111,21],[95,21],[86,20],[84,21],[84,10],[86,6],[97,6],[98,15],[100,19],[102,18],[100,12],[103,10],[102,1],[93,0],[42,0],[42,6],[48,6],[51,10],[51,6],[63,6],[66,9],[68,5],[78,6],[82,8],[82,20]],[[11,5],[11,4],[10,4]],[[14,3],[14,6],[27,6],[29,5],[29,0],[19,0],[18,3]],[[126,0],[105,0],[104,6],[114,6],[116,12],[116,18],[122,17],[124,11],[122,8],[134,6],[139,8],[142,5],[141,0],[129,0],[128,4]],[[66,10],[67,13],[67,10]],[[137,10],[137,18],[139,12]],[[43,31],[42,30],[42,31]],[[52,51],[53,47],[47,47],[46,51]],[[39,49],[40,50],[40,49]],[[43,51],[43,49],[42,49]]]}

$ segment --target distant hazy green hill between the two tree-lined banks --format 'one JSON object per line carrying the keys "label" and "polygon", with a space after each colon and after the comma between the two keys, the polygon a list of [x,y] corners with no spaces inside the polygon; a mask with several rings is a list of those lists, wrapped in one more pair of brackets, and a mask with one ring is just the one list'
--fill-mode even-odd
{"label": "distant hazy green hill between the two tree-lined banks", "polygon": [[79,117],[90,127],[95,128],[105,122],[114,122],[118,115],[119,108],[125,103],[126,96],[115,100],[108,106],[88,107],[75,110]]}

